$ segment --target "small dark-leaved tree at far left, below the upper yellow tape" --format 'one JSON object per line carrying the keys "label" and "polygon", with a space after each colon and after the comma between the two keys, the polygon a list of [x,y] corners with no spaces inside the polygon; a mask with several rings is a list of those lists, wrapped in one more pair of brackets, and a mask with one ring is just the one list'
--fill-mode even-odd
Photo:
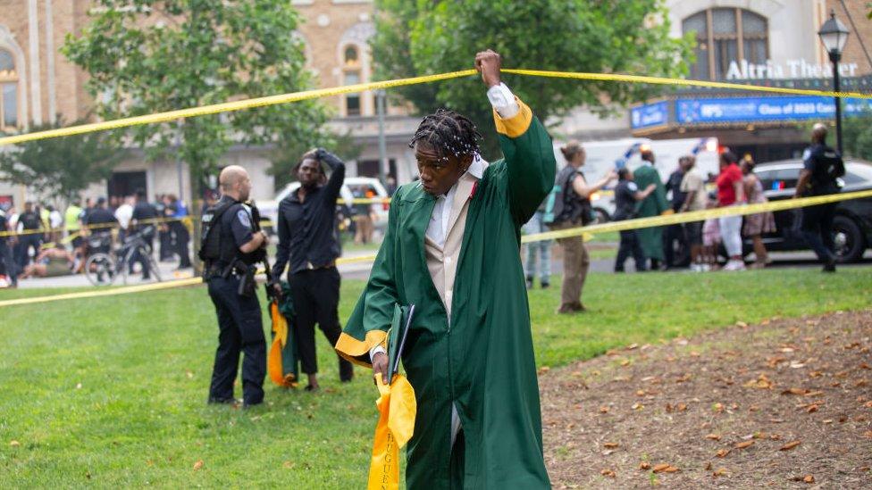
{"label": "small dark-leaved tree at far left, below the upper yellow tape", "polygon": [[[58,121],[32,130],[62,127]],[[59,206],[112,174],[125,154],[116,140],[110,133],[88,133],[22,143],[0,153],[0,178],[27,186]]]}

